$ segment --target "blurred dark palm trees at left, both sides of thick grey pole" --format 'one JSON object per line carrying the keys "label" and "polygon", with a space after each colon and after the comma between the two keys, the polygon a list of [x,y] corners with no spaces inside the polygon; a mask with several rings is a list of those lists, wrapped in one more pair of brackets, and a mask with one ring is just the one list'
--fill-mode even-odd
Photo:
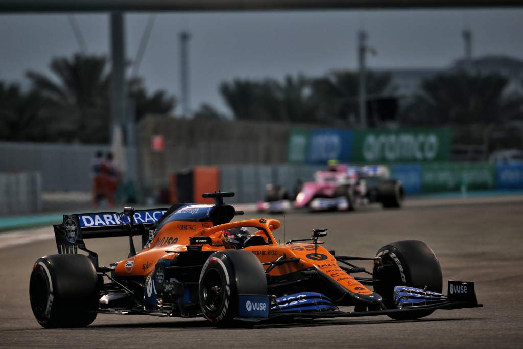
{"label": "blurred dark palm trees at left, both sides of thick grey pole", "polygon": [[[50,75],[28,71],[28,91],[0,81],[0,139],[107,143],[110,80],[103,56],[75,54],[52,59]],[[146,91],[142,78],[127,82],[137,120],[167,115],[176,99],[165,91]]]}

